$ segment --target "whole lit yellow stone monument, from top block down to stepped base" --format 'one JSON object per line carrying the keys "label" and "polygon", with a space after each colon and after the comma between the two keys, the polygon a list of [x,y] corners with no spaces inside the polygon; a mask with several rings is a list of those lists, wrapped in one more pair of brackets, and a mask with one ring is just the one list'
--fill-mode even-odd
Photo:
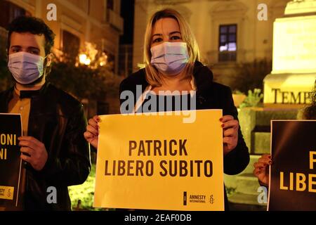
{"label": "whole lit yellow stone monument, from top block down to stepped base", "polygon": [[264,190],[253,174],[254,162],[263,153],[270,153],[270,121],[295,120],[298,110],[310,103],[315,79],[316,0],[289,1],[284,16],[273,26],[272,71],[263,80],[263,108],[242,108],[239,112],[251,155],[241,174],[225,175],[228,193],[232,192],[228,196],[232,210],[240,205],[265,210],[265,199],[258,198]]}

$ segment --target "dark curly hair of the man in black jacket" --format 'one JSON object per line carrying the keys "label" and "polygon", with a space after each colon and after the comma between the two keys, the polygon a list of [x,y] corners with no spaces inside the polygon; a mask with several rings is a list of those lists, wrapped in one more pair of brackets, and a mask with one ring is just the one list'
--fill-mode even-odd
{"label": "dark curly hair of the man in black jacket", "polygon": [[45,54],[51,53],[51,48],[54,45],[55,34],[53,31],[39,18],[31,16],[20,16],[15,18],[10,25],[8,25],[8,42],[7,51],[9,51],[11,44],[11,34],[17,33],[31,33],[43,35],[45,37]]}

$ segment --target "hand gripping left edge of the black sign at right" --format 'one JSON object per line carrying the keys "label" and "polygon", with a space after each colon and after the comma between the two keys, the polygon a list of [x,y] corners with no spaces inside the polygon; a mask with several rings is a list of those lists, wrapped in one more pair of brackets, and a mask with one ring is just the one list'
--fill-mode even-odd
{"label": "hand gripping left edge of the black sign at right", "polygon": [[254,163],[254,174],[258,177],[259,182],[264,185],[269,185],[269,168],[272,164],[271,155],[264,154],[259,158],[258,162]]}

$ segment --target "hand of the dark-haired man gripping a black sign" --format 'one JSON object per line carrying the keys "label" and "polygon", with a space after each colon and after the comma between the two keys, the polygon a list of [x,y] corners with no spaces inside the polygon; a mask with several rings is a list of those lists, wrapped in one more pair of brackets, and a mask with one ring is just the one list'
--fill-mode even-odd
{"label": "hand of the dark-haired man gripping a black sign", "polygon": [[48,158],[44,143],[41,143],[41,141],[32,136],[20,136],[18,140],[20,141],[19,146],[21,146],[21,153],[27,154],[21,154],[21,159],[25,160],[25,162],[29,162],[37,171],[43,169]]}

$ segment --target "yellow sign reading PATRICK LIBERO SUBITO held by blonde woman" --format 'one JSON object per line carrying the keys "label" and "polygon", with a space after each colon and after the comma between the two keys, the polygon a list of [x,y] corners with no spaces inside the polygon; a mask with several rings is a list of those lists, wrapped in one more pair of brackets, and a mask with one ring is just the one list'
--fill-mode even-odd
{"label": "yellow sign reading PATRICK LIBERO SUBITO held by blonde woman", "polygon": [[100,116],[94,207],[224,210],[220,117]]}

